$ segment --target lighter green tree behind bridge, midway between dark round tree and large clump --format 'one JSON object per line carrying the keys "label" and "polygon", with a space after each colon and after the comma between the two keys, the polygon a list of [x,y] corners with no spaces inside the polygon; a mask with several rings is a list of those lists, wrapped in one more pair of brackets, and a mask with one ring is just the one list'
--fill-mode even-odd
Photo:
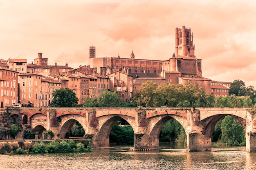
{"label": "lighter green tree behind bridge, midway between dark round tree and large clump", "polygon": [[104,89],[101,94],[99,94],[97,104],[99,107],[117,107],[119,106],[120,97],[115,91],[110,91]]}

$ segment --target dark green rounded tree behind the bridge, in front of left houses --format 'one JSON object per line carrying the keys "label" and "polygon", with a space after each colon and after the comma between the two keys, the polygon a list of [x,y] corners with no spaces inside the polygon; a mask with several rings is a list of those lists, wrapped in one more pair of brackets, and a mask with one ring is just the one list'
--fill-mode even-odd
{"label": "dark green rounded tree behind the bridge, in front of left houses", "polygon": [[60,88],[54,91],[52,94],[53,99],[51,106],[52,107],[77,107],[79,99],[69,88]]}

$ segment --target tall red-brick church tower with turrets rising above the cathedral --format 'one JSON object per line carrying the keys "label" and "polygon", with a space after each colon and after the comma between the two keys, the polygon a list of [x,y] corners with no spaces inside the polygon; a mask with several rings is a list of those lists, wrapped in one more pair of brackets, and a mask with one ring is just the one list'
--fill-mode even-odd
{"label": "tall red-brick church tower with turrets rising above the cathedral", "polygon": [[176,56],[195,57],[195,46],[193,45],[193,33],[186,26],[175,29],[175,54]]}

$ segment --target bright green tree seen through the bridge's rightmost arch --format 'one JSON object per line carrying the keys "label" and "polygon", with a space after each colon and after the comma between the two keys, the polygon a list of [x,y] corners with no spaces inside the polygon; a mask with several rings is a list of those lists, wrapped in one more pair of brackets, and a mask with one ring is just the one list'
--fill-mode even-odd
{"label": "bright green tree seen through the bridge's rightmost arch", "polygon": [[245,130],[240,122],[234,117],[226,116],[221,124],[221,142],[229,146],[245,144]]}

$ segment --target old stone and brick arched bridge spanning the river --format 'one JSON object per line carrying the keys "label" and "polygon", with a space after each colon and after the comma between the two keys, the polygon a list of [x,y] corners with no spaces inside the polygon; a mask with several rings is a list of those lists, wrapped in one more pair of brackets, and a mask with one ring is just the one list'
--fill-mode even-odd
{"label": "old stone and brick arched bridge spanning the river", "polygon": [[[211,150],[214,126],[230,115],[243,125],[246,150],[256,150],[256,117],[253,108],[20,108],[9,109],[9,120],[42,135],[52,130],[56,139],[65,138],[78,121],[92,147],[108,147],[112,127],[126,120],[135,133],[135,149],[159,148],[159,134],[167,121],[176,119],[186,131],[188,151]],[[19,121],[19,122],[18,122]]]}

